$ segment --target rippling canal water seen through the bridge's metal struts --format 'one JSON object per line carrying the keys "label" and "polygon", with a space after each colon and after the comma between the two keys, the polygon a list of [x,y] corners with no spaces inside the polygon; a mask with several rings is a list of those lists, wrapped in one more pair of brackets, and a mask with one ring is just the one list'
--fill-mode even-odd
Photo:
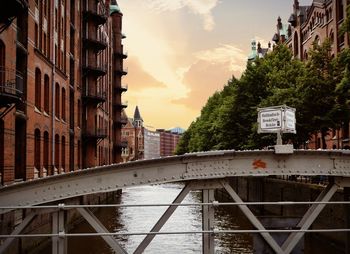
{"label": "rippling canal water seen through the bridge's metal struts", "polygon": [[[141,186],[123,190],[120,204],[171,203],[183,188],[179,184]],[[183,203],[200,203],[201,193],[191,192]],[[167,207],[119,207],[103,208],[96,216],[110,232],[149,232]],[[180,206],[176,209],[161,231],[200,231],[200,206]],[[239,211],[219,207],[215,210],[215,229],[249,228],[249,223]],[[72,233],[94,232],[86,223]],[[117,237],[119,244],[133,253],[145,236]],[[252,236],[248,234],[220,234],[215,236],[216,253],[253,253]],[[100,237],[71,237],[68,239],[68,253],[109,254],[113,251]],[[202,253],[200,234],[157,235],[144,253],[193,254]]]}

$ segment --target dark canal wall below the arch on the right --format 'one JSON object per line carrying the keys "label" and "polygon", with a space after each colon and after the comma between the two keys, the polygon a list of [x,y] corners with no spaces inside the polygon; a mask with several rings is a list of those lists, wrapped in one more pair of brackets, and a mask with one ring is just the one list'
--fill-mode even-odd
{"label": "dark canal wall below the arch on the right", "polygon": [[[230,178],[230,185],[238,195],[247,202],[273,201],[315,201],[325,185],[283,180],[270,177],[235,177]],[[216,192],[219,201],[229,201],[231,198],[224,190]],[[338,190],[331,201],[343,201],[343,190]],[[310,205],[264,205],[250,208],[259,217],[299,218],[305,214]],[[346,209],[344,205],[326,205],[310,229],[346,228]],[[297,221],[299,221],[299,219]],[[267,228],[269,225],[266,225]],[[292,227],[295,225],[292,225]],[[316,234],[316,233],[312,233]],[[311,234],[309,234],[311,235]],[[328,241],[341,249],[345,247],[345,233],[317,233],[317,237]],[[306,234],[308,236],[308,234]]]}

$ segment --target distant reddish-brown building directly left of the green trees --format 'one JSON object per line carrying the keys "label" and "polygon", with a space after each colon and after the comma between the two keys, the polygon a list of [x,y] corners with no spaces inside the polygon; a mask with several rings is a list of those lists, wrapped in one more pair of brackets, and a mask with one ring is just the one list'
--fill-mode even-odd
{"label": "distant reddish-brown building directly left of the green trees", "polygon": [[160,156],[174,155],[177,144],[183,133],[172,132],[171,130],[157,129],[160,134]]}

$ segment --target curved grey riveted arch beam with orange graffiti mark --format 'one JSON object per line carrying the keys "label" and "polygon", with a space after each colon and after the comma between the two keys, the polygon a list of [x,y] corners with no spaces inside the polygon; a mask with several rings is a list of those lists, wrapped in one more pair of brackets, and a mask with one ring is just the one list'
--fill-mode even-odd
{"label": "curved grey riveted arch beam with orange graffiti mark", "polygon": [[144,184],[269,175],[349,177],[350,151],[210,151],[99,166],[4,186],[0,188],[0,204],[37,205]]}

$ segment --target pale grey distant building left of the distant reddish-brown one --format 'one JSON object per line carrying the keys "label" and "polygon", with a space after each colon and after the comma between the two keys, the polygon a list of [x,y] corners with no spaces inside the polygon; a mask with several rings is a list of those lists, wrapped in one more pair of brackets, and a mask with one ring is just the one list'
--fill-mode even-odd
{"label": "pale grey distant building left of the distant reddish-brown one", "polygon": [[160,157],[160,134],[144,128],[144,159]]}

